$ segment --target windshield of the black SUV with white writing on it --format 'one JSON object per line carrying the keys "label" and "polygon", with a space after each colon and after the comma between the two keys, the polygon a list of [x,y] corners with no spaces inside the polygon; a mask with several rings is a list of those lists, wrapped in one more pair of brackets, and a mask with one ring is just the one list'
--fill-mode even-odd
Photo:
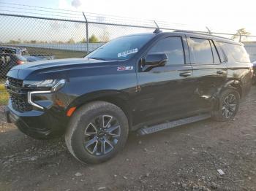
{"label": "windshield of the black SUV with white writing on it", "polygon": [[153,34],[123,36],[99,47],[91,52],[85,58],[93,58],[98,60],[125,60],[132,58],[146,42],[153,37]]}

